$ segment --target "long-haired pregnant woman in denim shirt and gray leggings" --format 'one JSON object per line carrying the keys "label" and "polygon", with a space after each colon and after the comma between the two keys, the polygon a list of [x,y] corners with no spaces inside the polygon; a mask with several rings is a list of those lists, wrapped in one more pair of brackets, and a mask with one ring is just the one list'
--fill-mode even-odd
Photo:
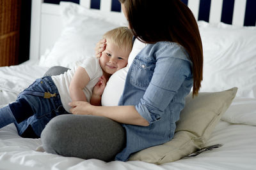
{"label": "long-haired pregnant woman in denim shirt and gray leggings", "polygon": [[202,42],[189,8],[178,0],[120,3],[134,37],[147,46],[129,67],[118,106],[70,103],[76,116],[56,117],[42,133],[47,152],[126,161],[131,153],[170,141],[192,86],[193,96],[198,94]]}

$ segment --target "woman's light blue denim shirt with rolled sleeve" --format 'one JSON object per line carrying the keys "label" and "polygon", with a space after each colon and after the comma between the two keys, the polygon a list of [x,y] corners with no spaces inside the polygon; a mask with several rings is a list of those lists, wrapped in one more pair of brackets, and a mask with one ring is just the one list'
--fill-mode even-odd
{"label": "woman's light blue denim shirt with rolled sleeve", "polygon": [[122,124],[126,146],[115,159],[125,161],[131,153],[170,141],[192,86],[192,62],[182,46],[166,41],[145,46],[129,67],[118,105],[134,105],[150,125]]}

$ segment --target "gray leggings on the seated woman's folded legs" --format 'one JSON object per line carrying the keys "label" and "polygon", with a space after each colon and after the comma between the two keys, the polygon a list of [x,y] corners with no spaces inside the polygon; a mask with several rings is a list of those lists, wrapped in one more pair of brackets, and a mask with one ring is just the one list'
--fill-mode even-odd
{"label": "gray leggings on the seated woman's folded legs", "polygon": [[[60,70],[67,71],[67,68],[63,68],[60,67]],[[60,74],[58,67],[50,70],[54,75]],[[47,71],[47,75],[51,76],[51,71]],[[125,130],[122,125],[106,117],[60,115],[46,125],[41,139],[48,153],[108,162],[124,148]]]}

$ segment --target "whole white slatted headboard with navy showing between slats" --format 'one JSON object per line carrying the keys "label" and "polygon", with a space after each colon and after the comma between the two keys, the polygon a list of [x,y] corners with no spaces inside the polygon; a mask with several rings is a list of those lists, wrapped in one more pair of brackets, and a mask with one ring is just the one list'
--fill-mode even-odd
{"label": "whole white slatted headboard with navy showing between slats", "polygon": [[[54,4],[49,3],[51,1]],[[113,20],[120,22],[125,20],[118,0],[73,0],[73,2],[103,13]],[[197,20],[255,26],[255,0],[182,0],[182,2],[189,6]],[[60,36],[62,24],[59,8],[56,0],[32,1],[29,59],[38,60],[45,49],[52,46]]]}

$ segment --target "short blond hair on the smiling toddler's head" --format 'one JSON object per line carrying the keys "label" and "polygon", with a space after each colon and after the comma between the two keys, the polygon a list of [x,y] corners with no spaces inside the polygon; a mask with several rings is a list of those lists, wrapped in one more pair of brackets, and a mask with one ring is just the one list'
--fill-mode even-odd
{"label": "short blond hair on the smiling toddler's head", "polygon": [[106,32],[103,38],[107,43],[113,43],[121,50],[132,50],[132,31],[128,27],[117,27]]}

